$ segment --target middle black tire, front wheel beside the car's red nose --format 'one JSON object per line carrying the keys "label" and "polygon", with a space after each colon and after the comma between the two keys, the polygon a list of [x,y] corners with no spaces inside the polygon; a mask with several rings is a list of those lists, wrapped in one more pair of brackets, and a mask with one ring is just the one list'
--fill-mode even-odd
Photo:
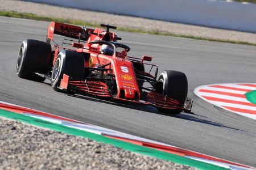
{"label": "middle black tire, front wheel beside the car's red nose", "polygon": [[53,90],[60,91],[63,74],[69,78],[81,80],[84,78],[84,56],[71,50],[62,50],[55,61],[52,68],[51,83]]}

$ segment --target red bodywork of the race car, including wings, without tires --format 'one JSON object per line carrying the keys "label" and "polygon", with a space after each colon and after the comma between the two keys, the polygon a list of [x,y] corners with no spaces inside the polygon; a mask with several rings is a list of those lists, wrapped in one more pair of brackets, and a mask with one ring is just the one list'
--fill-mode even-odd
{"label": "red bodywork of the race car, including wings, without tires", "polygon": [[[170,99],[170,97],[163,96],[162,94],[150,91],[147,94],[147,99],[141,101],[141,90],[138,86],[137,78],[134,71],[133,63],[129,60],[137,59],[144,64],[144,61],[151,61],[152,57],[143,56],[142,58],[128,57],[126,50],[122,52],[116,52],[113,56],[107,56],[100,53],[100,44],[90,44],[91,41],[96,40],[105,40],[105,41],[117,41],[120,38],[113,32],[102,31],[101,28],[83,29],[75,25],[55,23],[51,22],[48,27],[47,42],[50,43],[53,40],[53,34],[58,34],[73,39],[79,39],[79,42],[72,42],[71,48],[64,48],[62,46],[53,45],[53,59],[52,65],[54,65],[57,54],[59,54],[62,49],[72,49],[76,48],[76,52],[82,53],[85,56],[85,67],[101,67],[104,65],[104,69],[109,69],[105,71],[104,74],[112,75],[115,79],[117,85],[116,94],[110,92],[107,84],[101,81],[92,81],[92,80],[72,80],[68,75],[63,75],[61,79],[60,88],[67,90],[68,88],[75,88],[77,91],[85,92],[86,94],[101,96],[101,97],[111,97],[113,99],[129,101],[132,103],[144,104],[144,105],[153,105],[158,108],[166,109],[183,109],[183,111],[190,112],[186,110],[183,104],[180,104],[178,101]],[[86,41],[81,43],[81,41]],[[89,54],[89,55],[88,55]],[[88,57],[89,56],[89,57]],[[146,64],[146,63],[145,63]],[[148,63],[147,63],[148,64]],[[148,64],[150,65],[150,64]],[[156,65],[152,65],[156,66]],[[149,78],[154,79],[155,76],[140,71],[140,74],[143,74]]]}

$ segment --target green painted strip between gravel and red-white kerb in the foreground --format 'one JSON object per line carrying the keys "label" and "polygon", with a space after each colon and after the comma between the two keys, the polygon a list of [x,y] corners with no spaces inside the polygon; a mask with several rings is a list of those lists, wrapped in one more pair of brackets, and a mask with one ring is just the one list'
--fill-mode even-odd
{"label": "green painted strip between gravel and red-white kerb in the foreground", "polygon": [[143,146],[134,145],[132,143],[119,141],[116,139],[104,137],[102,135],[90,133],[87,131],[82,131],[82,130],[75,129],[75,128],[69,128],[64,125],[54,124],[49,121],[40,120],[39,118],[34,118],[34,117],[30,117],[30,116],[25,116],[23,114],[9,112],[9,111],[5,111],[3,109],[0,109],[0,116],[6,117],[6,118],[11,118],[16,121],[24,122],[24,123],[35,125],[35,126],[40,126],[40,127],[51,129],[51,130],[60,131],[60,132],[67,133],[67,134],[90,138],[90,139],[93,139],[94,141],[108,143],[110,145],[113,145],[116,147],[121,147],[121,148],[123,148],[125,150],[129,150],[131,152],[137,152],[139,154],[152,156],[152,157],[155,157],[158,159],[169,160],[171,162],[175,162],[175,163],[179,163],[179,164],[189,165],[191,167],[195,167],[195,168],[199,168],[199,169],[226,169],[226,168],[218,167],[217,165],[199,162],[197,160],[185,158],[182,156],[177,156],[174,154],[168,154],[166,152],[158,151],[153,148],[147,148],[147,147],[143,147]]}

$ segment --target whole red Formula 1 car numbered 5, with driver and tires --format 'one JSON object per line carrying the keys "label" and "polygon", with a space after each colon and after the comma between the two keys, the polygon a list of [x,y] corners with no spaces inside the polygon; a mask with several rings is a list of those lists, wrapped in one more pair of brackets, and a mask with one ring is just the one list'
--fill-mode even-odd
{"label": "whole red Formula 1 car numbered 5, with driver and tires", "polygon": [[[38,82],[50,79],[55,91],[69,94],[152,105],[168,114],[191,113],[193,100],[187,97],[184,73],[166,70],[156,79],[158,66],[145,63],[152,57],[127,56],[129,46],[117,42],[121,37],[109,31],[116,27],[105,24],[101,27],[106,30],[51,22],[46,42],[30,39],[22,42],[16,65],[18,76]],[[60,46],[53,41],[53,34],[71,39],[64,39]],[[151,67],[149,73],[146,66]],[[150,74],[152,67],[154,75]]]}

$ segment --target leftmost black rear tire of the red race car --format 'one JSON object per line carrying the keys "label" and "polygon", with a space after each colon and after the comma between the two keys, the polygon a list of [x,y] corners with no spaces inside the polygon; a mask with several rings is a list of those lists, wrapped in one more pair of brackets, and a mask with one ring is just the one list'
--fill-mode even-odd
{"label": "leftmost black rear tire of the red race car", "polygon": [[24,40],[18,54],[16,74],[20,78],[43,82],[46,78],[35,72],[47,73],[50,61],[51,45],[38,40]]}

